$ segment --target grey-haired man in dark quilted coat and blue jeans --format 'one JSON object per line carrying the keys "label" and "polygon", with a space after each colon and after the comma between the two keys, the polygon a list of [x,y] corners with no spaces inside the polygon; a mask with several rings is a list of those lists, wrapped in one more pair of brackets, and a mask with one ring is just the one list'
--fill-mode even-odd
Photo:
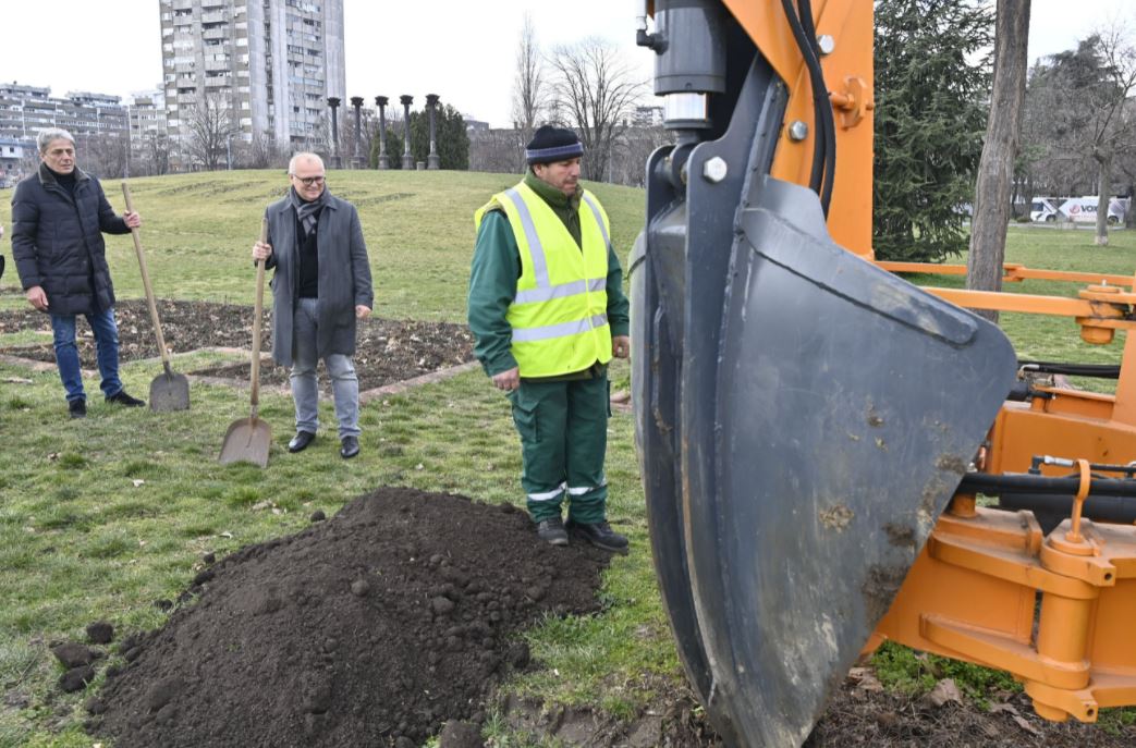
{"label": "grey-haired man in dark quilted coat and blue jeans", "polygon": [[102,186],[75,166],[75,138],[50,128],[36,137],[39,170],[16,185],[11,199],[11,254],[27,302],[51,316],[56,365],[72,418],[86,415],[86,394],[75,346],[75,317],[86,317],[107,402],[144,405],[118,378],[115,289],[102,233],[130,234],[137,213],[116,216]]}

